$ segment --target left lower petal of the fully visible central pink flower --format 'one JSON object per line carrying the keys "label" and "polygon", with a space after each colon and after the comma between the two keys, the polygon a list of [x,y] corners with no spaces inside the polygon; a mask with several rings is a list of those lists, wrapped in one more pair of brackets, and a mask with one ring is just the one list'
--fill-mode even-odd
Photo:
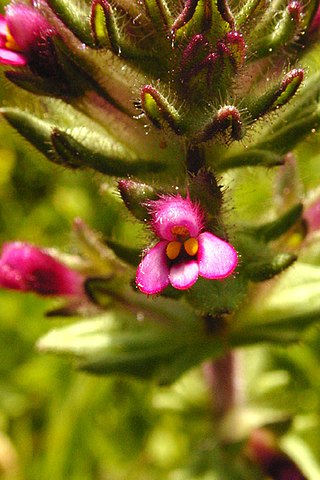
{"label": "left lower petal of the fully visible central pink flower", "polygon": [[142,293],[154,295],[169,285],[169,265],[166,256],[168,242],[158,242],[141,260],[136,284]]}

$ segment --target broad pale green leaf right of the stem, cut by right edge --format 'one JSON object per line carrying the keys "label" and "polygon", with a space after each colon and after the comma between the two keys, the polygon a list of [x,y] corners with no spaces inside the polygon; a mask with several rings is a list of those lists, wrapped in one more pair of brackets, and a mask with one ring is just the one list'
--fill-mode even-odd
{"label": "broad pale green leaf right of the stem, cut by right edge", "polygon": [[231,342],[243,345],[296,342],[320,321],[320,267],[296,262],[267,286],[262,284],[231,325]]}

